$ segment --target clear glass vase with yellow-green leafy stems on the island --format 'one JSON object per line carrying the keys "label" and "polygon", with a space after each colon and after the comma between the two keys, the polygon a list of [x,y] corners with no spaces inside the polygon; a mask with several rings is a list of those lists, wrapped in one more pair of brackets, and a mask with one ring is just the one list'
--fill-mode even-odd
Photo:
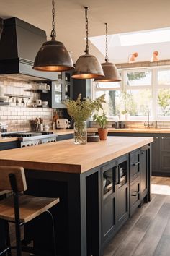
{"label": "clear glass vase with yellow-green leafy stems on the island", "polygon": [[65,105],[69,116],[74,121],[74,143],[86,143],[86,120],[92,116],[94,111],[102,109],[102,103],[105,103],[104,94],[95,100],[91,98],[83,98],[81,101],[81,94],[79,94],[76,101],[67,100]]}

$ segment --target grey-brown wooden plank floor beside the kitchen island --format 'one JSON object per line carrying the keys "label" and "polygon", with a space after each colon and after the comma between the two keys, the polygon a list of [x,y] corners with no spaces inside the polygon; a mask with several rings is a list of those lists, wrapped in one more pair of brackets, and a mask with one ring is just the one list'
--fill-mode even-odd
{"label": "grey-brown wooden plank floor beside the kitchen island", "polygon": [[170,255],[170,178],[152,177],[152,200],[138,208],[104,256]]}

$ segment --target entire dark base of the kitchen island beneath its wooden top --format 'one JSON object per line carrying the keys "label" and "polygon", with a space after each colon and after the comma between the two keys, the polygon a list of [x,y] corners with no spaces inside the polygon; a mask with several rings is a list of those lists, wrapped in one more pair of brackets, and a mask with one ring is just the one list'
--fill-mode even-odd
{"label": "entire dark base of the kitchen island beneath its wooden top", "polygon": [[145,146],[82,174],[26,170],[27,193],[61,199],[53,208],[57,254],[102,256],[125,221],[150,199],[150,167]]}

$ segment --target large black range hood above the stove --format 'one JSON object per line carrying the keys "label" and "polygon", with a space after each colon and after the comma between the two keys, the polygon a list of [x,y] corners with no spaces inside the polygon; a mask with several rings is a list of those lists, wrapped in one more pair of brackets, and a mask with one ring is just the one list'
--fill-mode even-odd
{"label": "large black range hood above the stove", "polygon": [[17,17],[4,20],[0,40],[0,76],[17,80],[57,80],[58,72],[40,72],[32,69],[35,56],[46,33]]}

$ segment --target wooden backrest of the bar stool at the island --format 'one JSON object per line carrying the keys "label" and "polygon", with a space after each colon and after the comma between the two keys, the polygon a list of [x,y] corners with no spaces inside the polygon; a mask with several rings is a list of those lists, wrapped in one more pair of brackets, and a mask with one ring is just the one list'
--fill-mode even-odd
{"label": "wooden backrest of the bar stool at the island", "polygon": [[27,190],[27,183],[24,175],[24,168],[18,166],[0,166],[0,189],[11,190],[9,174],[14,174],[17,180],[18,192]]}

